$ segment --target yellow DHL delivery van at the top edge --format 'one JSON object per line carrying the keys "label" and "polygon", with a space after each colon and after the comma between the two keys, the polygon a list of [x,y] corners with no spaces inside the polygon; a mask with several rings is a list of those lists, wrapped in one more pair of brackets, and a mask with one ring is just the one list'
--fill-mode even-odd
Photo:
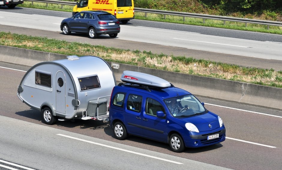
{"label": "yellow DHL delivery van at the top edge", "polygon": [[73,7],[73,15],[80,11],[107,11],[126,24],[134,19],[133,0],[80,0]]}

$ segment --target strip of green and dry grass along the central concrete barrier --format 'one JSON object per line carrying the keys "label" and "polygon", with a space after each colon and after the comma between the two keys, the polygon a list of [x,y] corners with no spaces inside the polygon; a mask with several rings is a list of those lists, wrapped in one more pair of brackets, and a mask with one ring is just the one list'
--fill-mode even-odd
{"label": "strip of green and dry grass along the central concrete barrier", "polygon": [[282,71],[273,69],[246,68],[193,57],[131,51],[10,32],[0,32],[0,45],[65,55],[93,55],[111,62],[282,88]]}

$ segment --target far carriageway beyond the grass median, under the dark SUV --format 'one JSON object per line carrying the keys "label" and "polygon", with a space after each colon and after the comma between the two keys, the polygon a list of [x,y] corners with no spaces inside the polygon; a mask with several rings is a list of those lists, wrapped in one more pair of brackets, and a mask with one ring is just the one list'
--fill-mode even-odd
{"label": "far carriageway beyond the grass median, under the dark SUV", "polygon": [[[0,24],[2,24],[0,25],[1,31],[282,70],[282,58],[280,57],[282,36],[280,35],[131,20],[128,24],[121,25],[124,31],[118,35],[118,38],[111,39],[108,36],[100,36],[98,39],[92,40],[81,34],[62,35],[59,30],[59,23],[64,17],[70,17],[71,13],[29,8],[17,8],[12,11],[13,16],[10,17],[13,20],[5,20],[4,22],[5,17],[3,17],[2,21],[0,20]],[[6,8],[1,8],[0,12],[4,12],[4,14],[8,12],[11,15],[11,10]],[[22,14],[21,22],[19,22],[18,18],[20,14]],[[32,14],[32,17],[26,19],[24,14]],[[27,15],[27,17],[29,16]],[[45,22],[48,23],[47,20],[50,24],[44,25]],[[52,20],[58,21],[52,23]],[[30,25],[32,22],[41,25],[38,25],[37,29],[35,29],[35,24]],[[26,24],[26,26],[20,26],[21,24]],[[50,31],[51,29],[53,31]],[[146,31],[149,31],[147,36],[144,34]],[[152,36],[162,33],[164,36],[160,36],[160,38],[153,37],[152,39],[149,33]],[[136,35],[134,36],[134,34]],[[176,34],[179,37],[174,36]],[[165,39],[166,36],[168,36],[167,39]],[[160,39],[159,42],[155,42],[154,38]],[[228,42],[232,42],[232,45],[226,44]],[[270,48],[269,51],[266,51],[266,48]],[[248,51],[248,53],[241,55],[243,51]],[[272,54],[273,57],[271,57]]]}

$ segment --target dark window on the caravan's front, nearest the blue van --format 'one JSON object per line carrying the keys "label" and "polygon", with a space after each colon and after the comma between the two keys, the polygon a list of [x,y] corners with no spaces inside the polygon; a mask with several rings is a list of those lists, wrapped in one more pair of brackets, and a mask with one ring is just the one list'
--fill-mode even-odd
{"label": "dark window on the caravan's front, nearest the blue van", "polygon": [[81,91],[101,87],[98,76],[81,77],[78,82]]}

